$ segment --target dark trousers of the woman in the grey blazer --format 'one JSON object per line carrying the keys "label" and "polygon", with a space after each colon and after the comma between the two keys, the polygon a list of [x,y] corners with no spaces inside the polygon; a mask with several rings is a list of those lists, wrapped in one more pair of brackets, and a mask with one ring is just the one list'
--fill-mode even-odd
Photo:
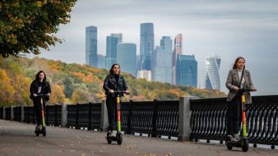
{"label": "dark trousers of the woman in the grey blazer", "polygon": [[229,103],[227,135],[237,134],[241,123],[241,96],[237,94]]}

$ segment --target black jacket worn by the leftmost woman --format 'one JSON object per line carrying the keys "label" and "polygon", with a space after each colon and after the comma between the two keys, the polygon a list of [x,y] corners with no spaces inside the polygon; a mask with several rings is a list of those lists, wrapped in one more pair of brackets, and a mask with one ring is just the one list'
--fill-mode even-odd
{"label": "black jacket worn by the leftmost woman", "polygon": [[[40,87],[40,81],[33,80],[30,86],[30,98],[34,100],[33,94],[38,94],[38,89]],[[47,81],[42,82],[41,94],[51,94],[51,87]],[[44,101],[49,101],[49,97],[44,98]]]}

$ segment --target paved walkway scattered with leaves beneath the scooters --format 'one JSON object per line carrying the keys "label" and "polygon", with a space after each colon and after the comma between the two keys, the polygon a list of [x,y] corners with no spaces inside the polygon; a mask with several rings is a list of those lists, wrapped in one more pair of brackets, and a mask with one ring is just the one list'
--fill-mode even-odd
{"label": "paved walkway scattered with leaves beneath the scooters", "polygon": [[243,153],[241,148],[227,150],[216,144],[194,144],[151,137],[124,135],[123,144],[107,144],[105,132],[47,127],[47,137],[35,137],[35,125],[0,120],[0,155],[278,155],[278,150],[251,148]]}

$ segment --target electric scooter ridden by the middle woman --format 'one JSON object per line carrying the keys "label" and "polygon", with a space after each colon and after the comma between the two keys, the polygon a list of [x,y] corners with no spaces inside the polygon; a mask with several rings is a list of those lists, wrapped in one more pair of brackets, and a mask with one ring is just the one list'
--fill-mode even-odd
{"label": "electric scooter ridden by the middle woman", "polygon": [[108,144],[111,144],[112,141],[117,141],[118,145],[122,144],[122,132],[121,132],[121,112],[120,112],[120,94],[126,94],[126,92],[114,92],[116,94],[117,101],[117,135],[116,137],[111,136],[111,132],[107,132],[106,140]]}

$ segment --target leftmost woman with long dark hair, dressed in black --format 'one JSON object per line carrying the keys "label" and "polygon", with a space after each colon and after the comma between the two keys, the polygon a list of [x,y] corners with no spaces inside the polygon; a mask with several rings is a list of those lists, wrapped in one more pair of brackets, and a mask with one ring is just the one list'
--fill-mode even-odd
{"label": "leftmost woman with long dark hair, dressed in black", "polygon": [[47,82],[47,76],[45,76],[44,71],[39,71],[35,76],[35,80],[31,83],[30,87],[30,98],[33,100],[34,103],[34,111],[37,116],[37,127],[40,128],[42,125],[42,114],[40,112],[40,94],[47,94],[47,97],[44,98],[43,105],[45,107],[45,102],[49,101],[49,96],[51,94],[51,88],[49,83]]}

